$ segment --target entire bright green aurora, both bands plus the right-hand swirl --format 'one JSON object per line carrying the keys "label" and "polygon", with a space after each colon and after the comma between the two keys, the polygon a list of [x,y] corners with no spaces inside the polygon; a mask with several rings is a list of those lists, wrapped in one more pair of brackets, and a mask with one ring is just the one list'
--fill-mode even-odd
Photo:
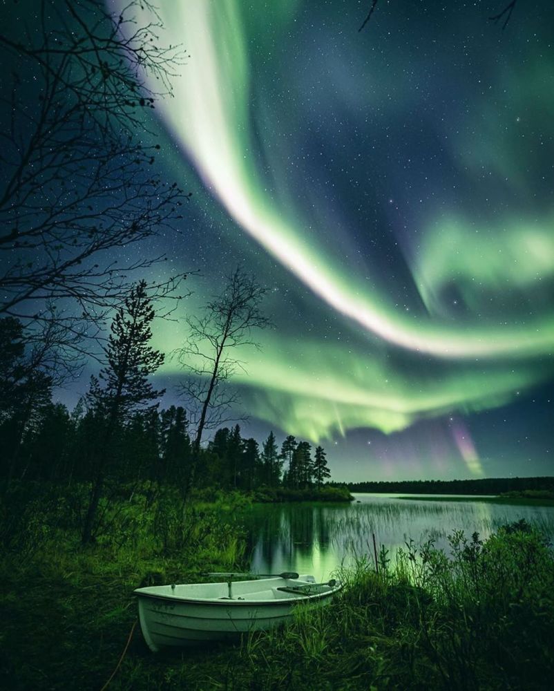
{"label": "entire bright green aurora, both bands plus the right-hand swirl", "polygon": [[[285,32],[300,4],[276,3],[271,30]],[[283,202],[278,180],[290,172],[284,155],[271,160],[273,187],[260,170],[255,152],[264,144],[254,136],[249,55],[253,42],[248,32],[259,27],[258,42],[264,40],[269,31],[263,17],[267,8],[249,8],[246,17],[243,3],[234,0],[160,5],[162,40],[184,45],[191,55],[173,81],[175,98],[158,106],[164,123],[234,222],[307,286],[321,309],[342,315],[354,340],[349,348],[328,343],[322,348],[317,341],[295,343],[264,334],[262,352],[238,354],[248,363],[247,375],[237,372],[235,378],[247,408],[289,433],[318,441],[350,428],[390,433],[420,417],[502,406],[548,376],[554,314],[551,309],[541,311],[540,304],[544,286],[554,280],[549,211],[522,212],[517,223],[499,216],[496,228],[479,227],[480,220],[455,212],[429,218],[418,234],[419,245],[405,253],[426,307],[416,319],[385,291],[374,288],[379,276],[368,290],[367,277],[349,270],[338,257],[340,248],[326,246],[316,230],[310,230],[314,218]],[[278,121],[274,114],[267,120],[274,125]],[[258,127],[258,139],[260,131]],[[468,167],[482,164],[464,142],[451,146],[466,152]],[[268,151],[273,149],[268,146]],[[517,152],[506,146],[504,154],[491,148],[481,155],[490,156],[495,174],[506,180],[508,171],[500,169],[503,162],[517,168]],[[515,173],[510,180],[518,184]],[[444,302],[444,292],[452,286],[466,306],[457,319]],[[515,296],[533,300],[537,291],[537,311],[525,320],[506,319],[500,309],[495,312],[490,297],[500,292],[504,301]],[[157,345],[166,352],[178,347],[186,336],[183,329],[160,323]],[[425,366],[408,377],[388,359],[385,350],[390,348],[401,349],[412,363],[424,358]],[[180,370],[169,361],[165,371]],[[472,464],[472,472],[479,473],[478,462]]]}

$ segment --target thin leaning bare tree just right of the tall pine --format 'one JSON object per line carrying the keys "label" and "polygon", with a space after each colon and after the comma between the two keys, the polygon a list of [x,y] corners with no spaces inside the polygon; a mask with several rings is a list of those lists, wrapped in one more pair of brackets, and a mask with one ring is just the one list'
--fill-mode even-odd
{"label": "thin leaning bare tree just right of the tall pine", "polygon": [[227,386],[233,373],[244,368],[236,358],[236,348],[258,348],[253,332],[269,325],[260,307],[266,292],[254,276],[238,267],[227,277],[222,294],[207,303],[204,314],[187,319],[189,339],[175,351],[187,373],[182,391],[195,411],[197,424],[186,494],[193,486],[204,429],[222,424],[237,403],[236,392]]}

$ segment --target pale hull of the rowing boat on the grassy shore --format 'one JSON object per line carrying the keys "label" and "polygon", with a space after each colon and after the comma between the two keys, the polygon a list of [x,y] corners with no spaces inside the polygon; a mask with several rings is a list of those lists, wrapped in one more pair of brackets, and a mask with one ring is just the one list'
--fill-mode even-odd
{"label": "pale hull of the rowing boat on the grassy shore", "polygon": [[[222,584],[227,587],[226,584]],[[238,587],[240,584],[233,584]],[[179,586],[183,588],[183,586]],[[267,630],[291,621],[295,609],[318,607],[330,602],[338,587],[316,596],[285,593],[272,587],[256,599],[186,598],[158,596],[137,591],[140,626],[153,652],[164,647],[199,645],[210,641],[233,641],[241,634]]]}

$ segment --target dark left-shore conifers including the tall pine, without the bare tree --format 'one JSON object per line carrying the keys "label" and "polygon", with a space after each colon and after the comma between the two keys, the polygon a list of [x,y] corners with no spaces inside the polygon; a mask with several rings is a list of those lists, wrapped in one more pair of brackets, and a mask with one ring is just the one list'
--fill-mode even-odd
{"label": "dark left-shore conifers including the tall pine, without the bare tree", "polygon": [[[329,477],[325,451],[274,433],[260,444],[240,426],[216,431],[200,448],[182,406],[158,410],[147,379],[163,361],[149,346],[153,310],[144,284],[118,310],[106,345],[106,366],[91,377],[75,410],[52,402],[54,381],[34,365],[21,322],[0,320],[0,478],[90,482],[149,480],[191,489],[254,490],[321,487]],[[92,501],[92,500],[91,500]],[[95,500],[97,504],[97,500]]]}

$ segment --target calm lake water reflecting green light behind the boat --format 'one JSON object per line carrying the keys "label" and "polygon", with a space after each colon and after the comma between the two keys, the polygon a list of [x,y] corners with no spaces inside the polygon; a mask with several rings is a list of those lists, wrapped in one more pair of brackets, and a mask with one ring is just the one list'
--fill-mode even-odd
{"label": "calm lake water reflecting green light behind the boat", "polygon": [[298,571],[327,580],[356,555],[373,553],[372,533],[390,555],[404,542],[434,538],[448,548],[447,536],[463,529],[486,538],[502,524],[525,518],[554,538],[554,507],[519,507],[467,502],[425,502],[394,496],[356,494],[352,504],[257,504],[245,516],[251,571]]}

